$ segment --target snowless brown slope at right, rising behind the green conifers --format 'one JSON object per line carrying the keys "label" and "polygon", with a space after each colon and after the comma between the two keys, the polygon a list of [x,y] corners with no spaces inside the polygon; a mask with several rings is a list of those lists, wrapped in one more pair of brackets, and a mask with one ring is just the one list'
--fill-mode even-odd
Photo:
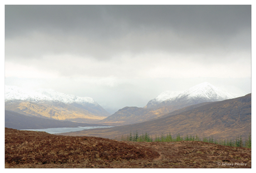
{"label": "snowless brown slope at right, rising behind the green conifers", "polygon": [[139,134],[150,135],[197,134],[200,138],[213,136],[215,139],[235,139],[240,135],[246,138],[251,133],[251,120],[251,94],[248,94],[235,99],[200,104],[194,109],[193,107],[184,108],[176,113],[166,114],[164,118],[144,123],[108,129],[83,130],[64,135],[114,139],[137,131]]}

